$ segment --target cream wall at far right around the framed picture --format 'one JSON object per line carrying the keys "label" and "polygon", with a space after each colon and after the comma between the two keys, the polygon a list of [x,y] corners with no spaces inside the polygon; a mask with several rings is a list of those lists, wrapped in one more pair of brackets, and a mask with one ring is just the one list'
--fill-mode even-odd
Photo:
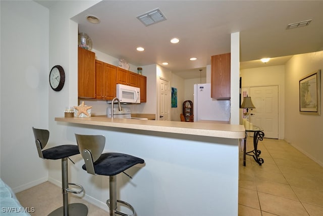
{"label": "cream wall at far right around the framed picture", "polygon": [[321,111],[323,107],[323,51],[295,55],[285,65],[285,140],[323,166],[323,113],[299,113],[299,80],[321,70]]}

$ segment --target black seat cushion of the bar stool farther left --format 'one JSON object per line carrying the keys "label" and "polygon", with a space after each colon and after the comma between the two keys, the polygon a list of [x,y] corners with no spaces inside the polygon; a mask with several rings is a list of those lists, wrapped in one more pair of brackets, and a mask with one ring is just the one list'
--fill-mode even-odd
{"label": "black seat cushion of the bar stool farther left", "polygon": [[79,153],[80,151],[77,145],[55,146],[42,151],[42,155],[45,159],[52,160],[62,159]]}

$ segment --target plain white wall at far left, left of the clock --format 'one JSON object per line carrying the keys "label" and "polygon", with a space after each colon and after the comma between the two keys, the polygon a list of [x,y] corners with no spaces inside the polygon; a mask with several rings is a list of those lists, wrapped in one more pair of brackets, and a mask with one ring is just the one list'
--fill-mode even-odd
{"label": "plain white wall at far left, left of the clock", "polygon": [[32,126],[48,128],[49,12],[33,1],[0,4],[0,176],[18,192],[47,181]]}

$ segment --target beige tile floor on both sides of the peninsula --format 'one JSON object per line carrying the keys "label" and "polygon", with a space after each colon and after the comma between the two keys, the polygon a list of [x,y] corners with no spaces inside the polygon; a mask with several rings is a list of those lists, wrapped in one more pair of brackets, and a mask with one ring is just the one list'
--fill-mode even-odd
{"label": "beige tile floor on both sides of the peninsula", "polygon": [[[249,149],[252,140],[248,138],[247,143]],[[259,141],[258,149],[264,159],[262,166],[251,156],[247,156],[246,166],[243,166],[243,153],[240,152],[239,215],[322,216],[323,167],[282,140],[263,139]],[[61,189],[49,182],[16,196],[23,206],[35,207],[33,216],[47,215],[62,205]],[[73,194],[69,199],[72,203],[86,204],[88,215],[108,215]]]}

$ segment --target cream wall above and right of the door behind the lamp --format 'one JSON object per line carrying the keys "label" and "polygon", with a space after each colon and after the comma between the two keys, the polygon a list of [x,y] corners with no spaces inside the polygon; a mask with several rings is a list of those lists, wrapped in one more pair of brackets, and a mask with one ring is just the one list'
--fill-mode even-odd
{"label": "cream wall above and right of the door behind the lamp", "polygon": [[240,70],[242,88],[278,85],[279,139],[284,139],[285,129],[285,66],[258,67]]}

